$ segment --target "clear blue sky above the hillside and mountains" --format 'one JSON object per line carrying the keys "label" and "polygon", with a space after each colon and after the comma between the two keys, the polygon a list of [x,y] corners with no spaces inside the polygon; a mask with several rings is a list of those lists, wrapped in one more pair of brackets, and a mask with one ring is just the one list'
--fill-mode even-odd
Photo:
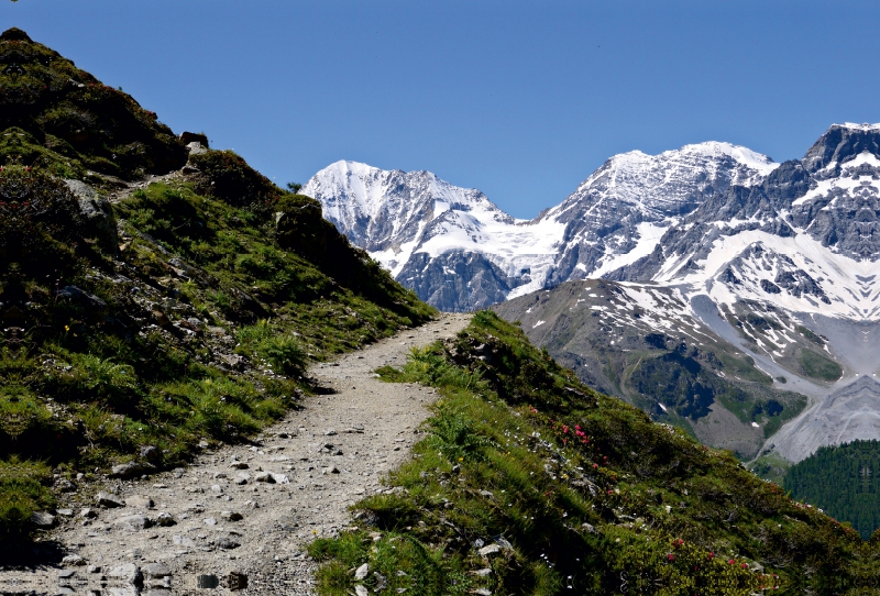
{"label": "clear blue sky above the hillside and mountains", "polygon": [[429,169],[512,214],[615,153],[801,157],[880,121],[876,2],[20,0],[19,26],[277,183]]}

